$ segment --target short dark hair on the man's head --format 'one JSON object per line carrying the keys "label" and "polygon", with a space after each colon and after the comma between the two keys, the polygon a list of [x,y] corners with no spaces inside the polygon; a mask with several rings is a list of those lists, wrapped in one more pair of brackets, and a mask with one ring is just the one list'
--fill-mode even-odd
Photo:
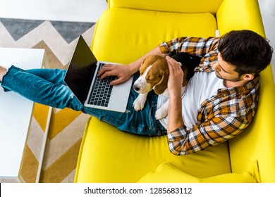
{"label": "short dark hair on the man's head", "polygon": [[218,50],[239,75],[259,74],[269,65],[272,47],[264,37],[250,30],[231,31],[221,37]]}

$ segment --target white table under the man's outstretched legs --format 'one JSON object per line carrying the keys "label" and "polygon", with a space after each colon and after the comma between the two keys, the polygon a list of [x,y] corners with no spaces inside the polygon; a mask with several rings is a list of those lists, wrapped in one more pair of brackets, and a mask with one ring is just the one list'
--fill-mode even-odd
{"label": "white table under the man's outstretched legs", "polygon": [[[0,48],[0,60],[6,67],[14,64],[23,69],[42,68],[45,61],[44,49]],[[32,107],[33,102],[23,96],[12,91],[0,91],[0,181],[4,179],[11,182],[13,179],[22,182],[20,170],[32,118]],[[41,137],[43,139],[36,182],[39,181],[47,129]]]}

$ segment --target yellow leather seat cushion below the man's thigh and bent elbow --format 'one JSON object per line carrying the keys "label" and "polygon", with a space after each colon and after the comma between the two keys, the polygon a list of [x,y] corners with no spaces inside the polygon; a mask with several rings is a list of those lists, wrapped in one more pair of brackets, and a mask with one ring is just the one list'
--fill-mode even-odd
{"label": "yellow leather seat cushion below the man's thigh and bent elbow", "polygon": [[166,136],[121,132],[92,117],[82,139],[75,182],[138,182],[164,162],[199,178],[231,172],[226,142],[176,156],[169,151]]}

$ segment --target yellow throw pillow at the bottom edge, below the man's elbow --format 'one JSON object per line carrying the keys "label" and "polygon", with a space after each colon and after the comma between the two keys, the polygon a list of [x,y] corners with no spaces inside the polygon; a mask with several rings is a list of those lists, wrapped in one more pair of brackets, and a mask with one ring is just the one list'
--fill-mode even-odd
{"label": "yellow throw pillow at the bottom edge, below the man's elbow", "polygon": [[140,183],[255,183],[249,172],[227,173],[200,179],[187,174],[169,163],[162,163],[156,170],[142,177]]}

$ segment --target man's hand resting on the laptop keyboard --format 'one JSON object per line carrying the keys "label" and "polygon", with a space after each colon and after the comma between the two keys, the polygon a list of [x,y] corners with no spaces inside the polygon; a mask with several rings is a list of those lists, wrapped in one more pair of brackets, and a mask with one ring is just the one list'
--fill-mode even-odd
{"label": "man's hand resting on the laptop keyboard", "polygon": [[104,79],[109,76],[118,77],[116,80],[112,81],[111,85],[120,84],[126,82],[131,75],[133,75],[133,69],[129,65],[114,65],[114,64],[106,64],[102,67],[101,70],[97,73],[97,77],[100,79]]}

